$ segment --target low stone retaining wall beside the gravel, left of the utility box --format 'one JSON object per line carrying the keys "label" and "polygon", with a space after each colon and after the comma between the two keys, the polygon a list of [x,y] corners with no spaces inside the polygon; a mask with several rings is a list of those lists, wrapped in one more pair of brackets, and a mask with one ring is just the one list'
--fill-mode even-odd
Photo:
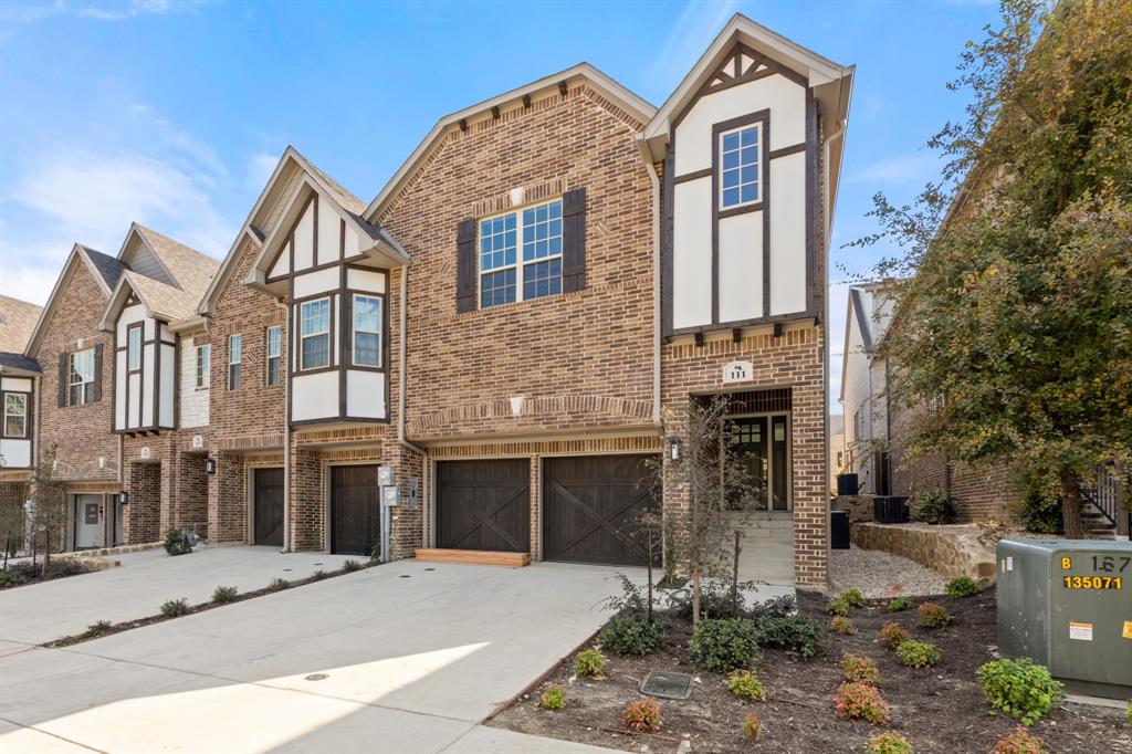
{"label": "low stone retaining wall beside the gravel, left of the utility box", "polygon": [[949,579],[970,576],[994,583],[994,548],[979,543],[974,526],[855,523],[849,531],[852,543],[864,550],[900,555]]}

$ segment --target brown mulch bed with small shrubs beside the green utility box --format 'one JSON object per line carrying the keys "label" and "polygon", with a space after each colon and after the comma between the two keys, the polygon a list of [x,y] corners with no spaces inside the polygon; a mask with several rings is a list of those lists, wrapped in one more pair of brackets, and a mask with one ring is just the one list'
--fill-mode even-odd
{"label": "brown mulch bed with small shrubs beside the green utility box", "polygon": [[[823,596],[799,592],[798,601],[801,612],[829,623]],[[783,651],[764,650],[756,672],[766,689],[766,702],[744,702],[727,691],[723,676],[697,671],[686,650],[691,625],[672,619],[666,643],[657,653],[610,656],[603,682],[572,680],[573,658],[568,658],[489,725],[632,752],[645,744],[652,752],[675,752],[684,738],[691,739],[693,752],[865,752],[868,739],[886,729],[907,736],[918,753],[990,752],[998,738],[1018,726],[1012,718],[990,712],[975,675],[980,665],[997,659],[993,654],[994,590],[966,599],[937,597],[931,601],[951,612],[954,620],[950,626],[919,628],[915,609],[889,614],[886,601],[871,601],[851,611],[856,634],[831,634],[826,651],[808,662]],[[902,625],[912,639],[936,644],[943,652],[942,662],[920,670],[904,668],[876,639],[887,620]],[[832,697],[841,683],[840,663],[846,654],[876,661],[881,693],[892,716],[890,726],[835,717]],[[697,683],[687,701],[658,700],[663,716],[659,735],[633,735],[623,729],[619,714],[627,702],[642,699],[638,686],[651,670],[691,672]],[[565,710],[549,712],[538,706],[539,696],[550,684],[566,689]],[[763,725],[757,743],[739,732],[744,716],[751,711]],[[1123,710],[1062,702],[1030,730],[1053,754],[1132,752],[1132,728]]]}

